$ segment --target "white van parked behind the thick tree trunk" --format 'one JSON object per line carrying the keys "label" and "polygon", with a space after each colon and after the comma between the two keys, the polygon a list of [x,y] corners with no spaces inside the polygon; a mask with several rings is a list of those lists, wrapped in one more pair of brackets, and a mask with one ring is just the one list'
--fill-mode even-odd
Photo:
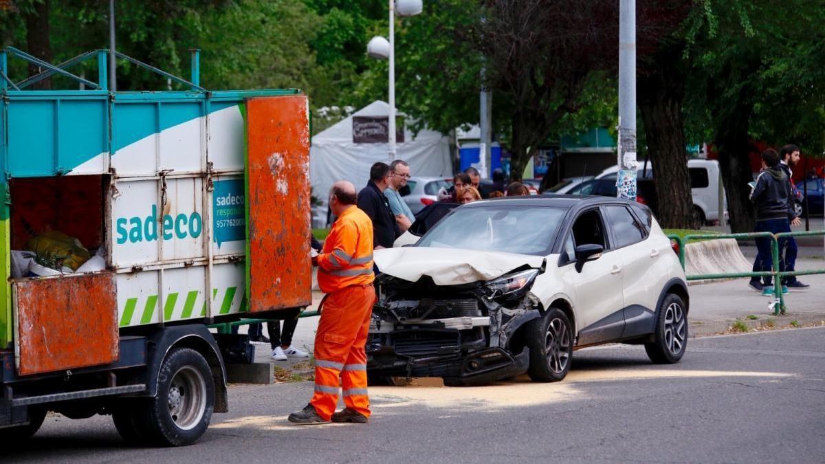
{"label": "white van parked behind the thick tree trunk", "polygon": [[[693,192],[696,219],[700,221],[700,224],[719,220],[719,182],[722,182],[719,177],[719,162],[715,159],[688,159],[687,168],[691,174],[691,192]],[[618,166],[610,166],[596,175],[596,178],[615,178],[618,172]],[[639,178],[653,178],[653,166],[650,162],[646,169],[644,163],[639,162]],[[723,200],[725,217],[727,217],[728,202],[726,198]]]}

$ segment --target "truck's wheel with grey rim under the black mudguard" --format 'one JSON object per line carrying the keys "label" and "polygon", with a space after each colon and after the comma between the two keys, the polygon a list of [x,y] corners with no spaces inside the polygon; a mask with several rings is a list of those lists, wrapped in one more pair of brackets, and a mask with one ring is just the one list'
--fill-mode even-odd
{"label": "truck's wheel with grey rim under the black mudguard", "polygon": [[[167,354],[158,372],[158,395],[144,418],[150,440],[163,446],[195,443],[209,427],[214,409],[214,381],[204,357],[191,348]],[[137,424],[140,428],[140,420]]]}

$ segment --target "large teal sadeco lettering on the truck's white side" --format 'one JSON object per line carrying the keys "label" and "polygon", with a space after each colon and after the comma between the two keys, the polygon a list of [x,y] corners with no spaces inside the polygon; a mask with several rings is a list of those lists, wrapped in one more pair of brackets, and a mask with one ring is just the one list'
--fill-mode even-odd
{"label": "large teal sadeco lettering on the truck's white side", "polygon": [[[129,226],[128,230],[126,229],[127,225]],[[136,244],[143,241],[153,242],[157,240],[158,206],[152,205],[152,214],[146,216],[145,219],[141,219],[139,216],[130,219],[117,218],[115,228],[118,244],[125,244],[127,241]],[[204,221],[197,212],[193,212],[188,216],[181,213],[174,218],[172,218],[172,215],[163,216],[163,230],[161,230],[160,235],[164,240],[171,240],[172,237],[197,239],[203,230]]]}

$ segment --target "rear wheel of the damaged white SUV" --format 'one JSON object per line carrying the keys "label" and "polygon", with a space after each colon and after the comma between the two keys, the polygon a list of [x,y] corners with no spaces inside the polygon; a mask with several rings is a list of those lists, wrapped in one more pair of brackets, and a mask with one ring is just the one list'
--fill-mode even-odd
{"label": "rear wheel of the damaged white SUV", "polygon": [[681,297],[668,293],[656,316],[653,342],[644,343],[644,351],[654,364],[679,362],[687,347],[687,308]]}

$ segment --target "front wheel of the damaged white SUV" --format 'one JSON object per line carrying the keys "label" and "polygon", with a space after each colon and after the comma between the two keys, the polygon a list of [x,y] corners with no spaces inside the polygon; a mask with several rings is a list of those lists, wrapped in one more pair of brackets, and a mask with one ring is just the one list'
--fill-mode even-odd
{"label": "front wheel of the damaged white SUV", "polygon": [[570,371],[573,357],[573,327],[568,316],[558,308],[550,308],[527,324],[527,347],[530,348],[527,374],[530,379],[562,380]]}

